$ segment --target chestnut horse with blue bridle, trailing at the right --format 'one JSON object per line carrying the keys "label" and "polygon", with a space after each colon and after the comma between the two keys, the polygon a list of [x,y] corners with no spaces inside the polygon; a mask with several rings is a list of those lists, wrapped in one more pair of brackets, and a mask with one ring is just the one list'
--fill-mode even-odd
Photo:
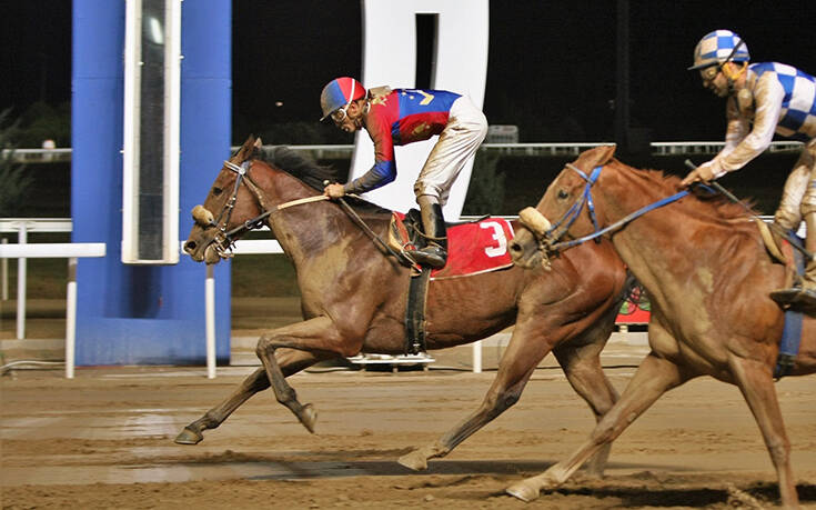
{"label": "chestnut horse with blue bridle, trailing at the right", "polygon": [[[692,192],[636,216],[678,192],[679,180],[627,167],[613,159],[614,150],[592,149],[567,166],[535,210],[523,211],[530,229],[516,231],[511,252],[517,264],[540,266],[547,252],[611,227],[607,234],[615,249],[649,294],[651,352],[586,442],[567,460],[507,491],[531,500],[541,489],[558,486],[664,392],[712,376],[743,392],[776,468],[782,502],[796,507],[790,447],[773,378],[784,313],[768,297],[783,287],[784,267],[766,254],[747,207],[722,196]],[[550,221],[575,212],[572,224],[567,220],[551,227]],[[562,237],[567,240],[558,244]],[[794,376],[816,371],[815,327],[813,318],[804,319]]]}

